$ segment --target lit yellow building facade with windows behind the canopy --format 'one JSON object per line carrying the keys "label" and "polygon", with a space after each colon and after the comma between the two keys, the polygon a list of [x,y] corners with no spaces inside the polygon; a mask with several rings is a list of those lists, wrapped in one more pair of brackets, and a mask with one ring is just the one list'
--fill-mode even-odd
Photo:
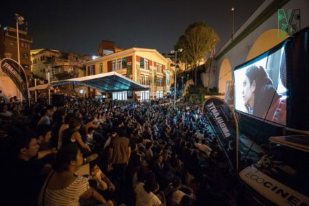
{"label": "lit yellow building facade with windows behind the canopy", "polygon": [[[163,98],[170,91],[172,72],[169,61],[155,49],[133,47],[90,60],[84,65],[87,67],[87,76],[116,71],[149,88],[149,91],[113,93],[110,96],[113,99],[132,99],[136,93],[140,100],[149,100]],[[94,89],[88,89],[88,94],[99,95]]]}

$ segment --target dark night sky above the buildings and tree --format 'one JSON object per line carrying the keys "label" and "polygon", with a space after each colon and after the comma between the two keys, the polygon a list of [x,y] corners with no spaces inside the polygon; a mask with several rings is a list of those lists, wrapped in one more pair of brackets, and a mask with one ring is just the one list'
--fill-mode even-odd
{"label": "dark night sky above the buildings and tree", "polygon": [[0,24],[16,27],[14,14],[21,14],[33,38],[32,49],[94,55],[102,40],[124,49],[137,46],[168,53],[196,21],[216,30],[218,50],[231,36],[231,8],[236,31],[264,0],[4,1]]}

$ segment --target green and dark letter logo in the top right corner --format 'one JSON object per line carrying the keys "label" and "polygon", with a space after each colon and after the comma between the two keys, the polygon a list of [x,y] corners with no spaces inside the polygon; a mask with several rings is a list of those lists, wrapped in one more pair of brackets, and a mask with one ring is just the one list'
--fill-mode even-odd
{"label": "green and dark letter logo in the top right corner", "polygon": [[285,38],[285,35],[293,36],[300,28],[300,10],[288,10],[286,13],[284,9],[279,9],[277,12],[277,38]]}

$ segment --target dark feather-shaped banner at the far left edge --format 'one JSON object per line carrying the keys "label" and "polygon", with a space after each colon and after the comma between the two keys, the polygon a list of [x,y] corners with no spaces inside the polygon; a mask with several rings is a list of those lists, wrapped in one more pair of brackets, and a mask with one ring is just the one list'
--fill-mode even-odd
{"label": "dark feather-shaped banner at the far left edge", "polygon": [[2,71],[11,78],[19,91],[21,91],[23,97],[27,100],[28,105],[30,106],[27,76],[25,75],[23,67],[11,58],[3,58],[0,62],[0,67]]}

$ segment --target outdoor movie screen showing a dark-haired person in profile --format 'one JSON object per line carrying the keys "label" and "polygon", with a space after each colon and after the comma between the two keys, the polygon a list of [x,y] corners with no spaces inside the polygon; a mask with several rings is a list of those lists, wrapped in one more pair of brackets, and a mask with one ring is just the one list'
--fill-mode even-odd
{"label": "outdoor movie screen showing a dark-haired person in profile", "polygon": [[[285,44],[235,68],[235,108],[286,126]],[[273,51],[273,50],[270,50]]]}

